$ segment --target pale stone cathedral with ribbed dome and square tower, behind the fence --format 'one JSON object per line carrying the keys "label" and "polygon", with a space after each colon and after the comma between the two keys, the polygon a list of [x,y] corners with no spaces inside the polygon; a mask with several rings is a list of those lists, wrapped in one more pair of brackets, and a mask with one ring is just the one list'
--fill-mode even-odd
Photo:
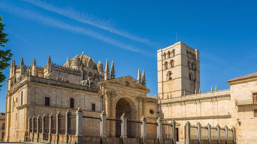
{"label": "pale stone cathedral with ribbed dome and square tower, behind the fence", "polygon": [[[10,65],[7,80],[5,141],[25,141],[28,119],[34,115],[78,108],[90,115],[129,119],[176,121],[176,140],[185,141],[185,123],[237,126],[238,143],[256,143],[257,73],[228,80],[230,89],[201,93],[199,50],[177,42],[157,51],[158,95],[149,96],[146,75],[138,69],[137,79],[115,77],[114,61],[105,66],[84,52],[56,64],[25,65],[23,58]],[[247,100],[247,101],[246,101]],[[255,135],[255,136],[253,136]],[[255,137],[255,138],[252,138]]]}

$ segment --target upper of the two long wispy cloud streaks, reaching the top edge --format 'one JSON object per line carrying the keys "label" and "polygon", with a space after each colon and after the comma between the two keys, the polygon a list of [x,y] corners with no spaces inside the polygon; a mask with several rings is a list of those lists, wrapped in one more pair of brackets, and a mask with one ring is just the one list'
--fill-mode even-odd
{"label": "upper of the two long wispy cloud streaks, reaching the top edge", "polygon": [[130,33],[127,33],[126,31],[122,31],[119,29],[114,28],[110,24],[110,21],[107,21],[105,19],[101,19],[99,17],[95,17],[92,14],[87,14],[81,11],[74,10],[72,8],[61,8],[61,7],[56,7],[51,3],[47,3],[45,1],[40,1],[40,0],[20,0],[20,1],[25,1],[27,3],[33,4],[34,6],[38,6],[40,8],[43,8],[45,10],[52,11],[54,13],[58,13],[60,15],[63,15],[65,17],[68,17],[70,19],[76,20],[78,22],[82,22],[84,24],[89,24],[91,26],[98,27],[100,29],[104,29],[106,31],[109,31],[111,33],[115,33],[117,35],[120,35],[122,37],[144,43],[149,46],[154,46],[156,45],[155,42],[151,42],[150,40],[146,38],[140,38],[136,35],[132,35]]}

